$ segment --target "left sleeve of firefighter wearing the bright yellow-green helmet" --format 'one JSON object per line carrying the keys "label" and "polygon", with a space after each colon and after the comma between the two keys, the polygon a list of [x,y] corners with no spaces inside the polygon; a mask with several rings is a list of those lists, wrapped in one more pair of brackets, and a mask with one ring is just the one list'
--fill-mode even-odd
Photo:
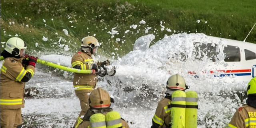
{"label": "left sleeve of firefighter wearing the bright yellow-green helmet", "polygon": [[244,119],[242,118],[239,110],[237,110],[232,117],[230,123],[228,124],[228,128],[245,128]]}

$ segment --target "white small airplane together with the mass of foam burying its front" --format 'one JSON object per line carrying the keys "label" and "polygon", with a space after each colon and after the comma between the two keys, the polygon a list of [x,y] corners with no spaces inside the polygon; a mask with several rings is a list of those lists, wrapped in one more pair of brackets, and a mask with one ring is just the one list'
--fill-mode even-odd
{"label": "white small airplane together with the mass of foam burying its front", "polygon": [[[142,37],[145,38],[152,36]],[[138,42],[134,44],[134,51],[114,62],[117,74],[105,77],[126,95],[133,92],[130,94],[134,96],[133,102],[142,102],[143,96],[161,94],[166,80],[175,73],[181,73],[188,82],[220,78],[248,83],[256,77],[256,44],[245,40],[182,33],[165,36],[148,48],[144,46],[150,41],[138,39]],[[200,79],[190,80],[191,76]]]}

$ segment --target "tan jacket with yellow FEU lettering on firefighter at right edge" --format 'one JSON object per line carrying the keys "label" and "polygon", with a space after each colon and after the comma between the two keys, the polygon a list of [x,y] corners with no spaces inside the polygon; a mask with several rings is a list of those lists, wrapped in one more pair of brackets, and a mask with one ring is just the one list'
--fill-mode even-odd
{"label": "tan jacket with yellow FEU lettering on firefighter at right edge", "polygon": [[248,105],[238,108],[228,128],[256,128],[256,108]]}

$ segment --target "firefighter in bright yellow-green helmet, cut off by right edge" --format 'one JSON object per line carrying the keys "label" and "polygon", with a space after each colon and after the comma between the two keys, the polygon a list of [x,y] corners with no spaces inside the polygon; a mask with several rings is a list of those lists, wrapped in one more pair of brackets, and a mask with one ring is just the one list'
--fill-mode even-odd
{"label": "firefighter in bright yellow-green helmet, cut off by right edge", "polygon": [[256,77],[247,86],[246,105],[238,108],[228,128],[256,128]]}

